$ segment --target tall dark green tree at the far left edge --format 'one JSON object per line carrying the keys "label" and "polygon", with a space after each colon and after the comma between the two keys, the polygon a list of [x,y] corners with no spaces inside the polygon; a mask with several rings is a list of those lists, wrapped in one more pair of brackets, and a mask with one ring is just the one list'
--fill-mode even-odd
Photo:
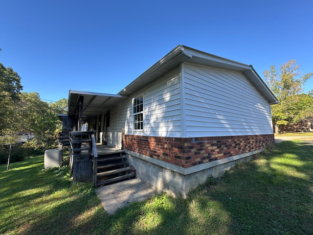
{"label": "tall dark green tree at the far left edge", "polygon": [[12,134],[12,117],[22,90],[21,77],[0,63],[0,138]]}

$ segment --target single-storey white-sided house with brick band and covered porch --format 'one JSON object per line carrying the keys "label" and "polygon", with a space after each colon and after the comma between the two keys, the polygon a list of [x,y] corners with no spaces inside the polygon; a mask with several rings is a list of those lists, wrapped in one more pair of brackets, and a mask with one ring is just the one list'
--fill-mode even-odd
{"label": "single-storey white-sided house with brick band and covered porch", "polygon": [[277,102],[252,66],[178,46],[118,94],[69,91],[68,115],[123,148],[142,181],[186,197],[274,142]]}

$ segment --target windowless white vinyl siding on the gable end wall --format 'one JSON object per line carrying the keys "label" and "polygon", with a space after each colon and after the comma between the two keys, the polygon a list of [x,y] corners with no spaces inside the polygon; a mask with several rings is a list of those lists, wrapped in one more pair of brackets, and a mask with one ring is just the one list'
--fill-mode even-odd
{"label": "windowless white vinyl siding on the gable end wall", "polygon": [[240,72],[184,64],[185,137],[272,134],[268,101]]}

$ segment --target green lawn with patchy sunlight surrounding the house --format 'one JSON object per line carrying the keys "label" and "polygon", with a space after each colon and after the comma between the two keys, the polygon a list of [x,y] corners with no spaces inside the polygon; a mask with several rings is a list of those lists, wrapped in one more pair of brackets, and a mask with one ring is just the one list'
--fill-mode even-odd
{"label": "green lawn with patchy sunlight surrounding the house", "polygon": [[189,192],[109,215],[90,184],[43,156],[0,165],[0,234],[313,234],[313,146],[286,141]]}

